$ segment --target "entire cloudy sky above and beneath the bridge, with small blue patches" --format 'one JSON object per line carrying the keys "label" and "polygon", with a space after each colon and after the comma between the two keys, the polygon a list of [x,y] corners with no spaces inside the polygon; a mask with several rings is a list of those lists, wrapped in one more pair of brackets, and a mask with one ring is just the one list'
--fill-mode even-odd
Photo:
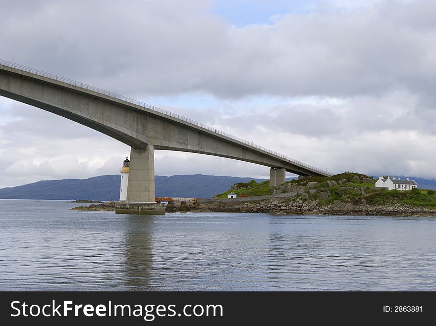
{"label": "entire cloudy sky above and beneath the bridge, with small blue patches", "polygon": [[[352,3],[352,4],[350,4]],[[434,0],[0,0],[0,58],[333,173],[436,179]],[[129,147],[0,97],[0,187],[117,174]],[[155,152],[158,175],[268,178]]]}

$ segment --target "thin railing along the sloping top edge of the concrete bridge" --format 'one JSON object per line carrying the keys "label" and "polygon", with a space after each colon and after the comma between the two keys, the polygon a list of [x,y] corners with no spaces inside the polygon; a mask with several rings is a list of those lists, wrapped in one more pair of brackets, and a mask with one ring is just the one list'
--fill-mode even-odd
{"label": "thin railing along the sloping top edge of the concrete bridge", "polygon": [[244,143],[244,144],[246,144],[248,146],[251,146],[251,147],[263,150],[263,151],[268,152],[268,153],[270,153],[272,155],[278,156],[278,157],[288,161],[289,163],[298,164],[298,165],[300,165],[302,167],[305,167],[305,168],[308,168],[310,170],[321,172],[322,174],[332,175],[332,173],[327,172],[327,170],[316,168],[316,167],[314,167],[312,165],[303,163],[301,161],[295,160],[295,159],[290,158],[288,156],[285,156],[283,154],[277,153],[277,152],[275,152],[275,151],[273,151],[271,149],[268,149],[268,148],[265,148],[263,146],[257,145],[257,144],[255,144],[252,141],[243,140],[243,139],[241,139],[239,137],[235,137],[233,135],[227,134],[227,133],[225,133],[223,131],[220,131],[220,130],[218,130],[216,128],[207,126],[205,124],[202,124],[202,123],[197,122],[195,120],[191,120],[191,119],[183,117],[181,115],[172,113],[170,111],[163,110],[163,109],[161,109],[159,107],[156,107],[156,106],[144,103],[144,102],[137,101],[136,99],[129,98],[129,97],[117,94],[117,93],[112,93],[112,92],[109,92],[109,91],[106,91],[106,90],[102,90],[102,89],[100,89],[98,87],[94,87],[94,86],[87,85],[87,84],[84,84],[84,83],[76,82],[76,81],[71,80],[69,78],[64,78],[64,77],[61,77],[61,76],[57,76],[57,75],[54,75],[54,74],[51,74],[51,73],[48,73],[48,72],[45,72],[45,71],[42,71],[42,70],[38,70],[38,69],[31,68],[31,67],[23,66],[21,64],[17,64],[17,63],[14,63],[14,62],[10,62],[10,61],[6,61],[6,60],[0,59],[0,64],[2,64],[4,66],[7,66],[7,67],[10,67],[10,68],[15,68],[15,69],[26,71],[26,72],[29,72],[29,73],[32,73],[32,74],[36,74],[36,75],[39,75],[39,76],[42,76],[42,77],[54,79],[56,81],[59,81],[59,82],[62,82],[62,83],[66,83],[66,84],[69,84],[69,85],[73,85],[73,86],[76,86],[76,87],[80,87],[80,88],[86,89],[88,91],[92,91],[92,92],[104,94],[104,95],[107,95],[107,96],[110,96],[110,97],[114,97],[116,99],[119,99],[119,100],[122,100],[122,101],[125,101],[125,102],[128,102],[128,103],[131,103],[131,104],[135,104],[135,105],[138,105],[138,106],[141,106],[141,107],[144,107],[144,108],[147,108],[147,109],[159,112],[159,113],[162,113],[162,114],[170,116],[172,118],[176,118],[176,119],[182,120],[184,122],[190,123],[190,124],[195,125],[197,127],[201,127],[201,128],[207,129],[207,130],[209,130],[211,132],[217,133],[218,135],[224,136],[226,138],[230,138],[232,140],[236,140],[236,141],[242,142],[242,143]]}

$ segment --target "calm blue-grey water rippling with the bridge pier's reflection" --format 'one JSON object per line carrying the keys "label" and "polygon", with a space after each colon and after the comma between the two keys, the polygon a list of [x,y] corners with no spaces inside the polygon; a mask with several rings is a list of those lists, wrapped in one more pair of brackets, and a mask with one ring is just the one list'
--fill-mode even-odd
{"label": "calm blue-grey water rippling with the bridge pier's reflection", "polygon": [[0,290],[436,290],[436,219],[0,200]]}

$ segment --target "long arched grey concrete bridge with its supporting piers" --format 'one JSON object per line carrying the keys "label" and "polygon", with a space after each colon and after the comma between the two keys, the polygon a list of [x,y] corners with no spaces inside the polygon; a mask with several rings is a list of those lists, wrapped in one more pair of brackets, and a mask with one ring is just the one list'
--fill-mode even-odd
{"label": "long arched grey concrete bridge with its supporting piers", "polygon": [[285,171],[328,176],[291,159],[194,120],[30,67],[0,60],[0,95],[53,112],[131,147],[127,202],[155,202],[155,149],[227,157],[270,167],[270,185]]}

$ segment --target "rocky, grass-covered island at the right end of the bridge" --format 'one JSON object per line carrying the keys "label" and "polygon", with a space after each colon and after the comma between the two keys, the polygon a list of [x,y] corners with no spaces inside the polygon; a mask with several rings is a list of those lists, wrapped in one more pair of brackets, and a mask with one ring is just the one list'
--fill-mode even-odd
{"label": "rocky, grass-covered island at the right end of the bridge", "polygon": [[[237,198],[227,198],[234,192]],[[214,198],[167,211],[246,212],[306,215],[436,216],[434,190],[376,188],[372,177],[342,173],[307,177],[270,187],[269,182],[235,184]]]}

